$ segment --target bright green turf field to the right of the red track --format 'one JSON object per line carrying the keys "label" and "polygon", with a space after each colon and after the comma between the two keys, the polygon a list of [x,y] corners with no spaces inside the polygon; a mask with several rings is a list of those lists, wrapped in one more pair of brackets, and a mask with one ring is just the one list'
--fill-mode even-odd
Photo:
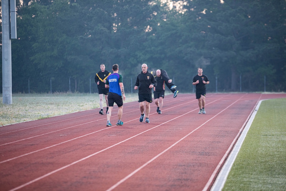
{"label": "bright green turf field to the right of the red track", "polygon": [[286,190],[286,99],[261,103],[223,190]]}

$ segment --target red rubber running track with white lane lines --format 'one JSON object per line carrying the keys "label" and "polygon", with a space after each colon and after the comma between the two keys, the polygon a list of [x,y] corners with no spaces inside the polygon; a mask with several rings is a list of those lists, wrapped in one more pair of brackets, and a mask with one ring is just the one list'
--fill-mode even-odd
{"label": "red rubber running track with white lane lines", "polygon": [[[209,190],[259,100],[286,94],[194,94],[123,105],[123,126],[99,109],[0,127],[0,190]],[[215,174],[213,177],[212,175]]]}

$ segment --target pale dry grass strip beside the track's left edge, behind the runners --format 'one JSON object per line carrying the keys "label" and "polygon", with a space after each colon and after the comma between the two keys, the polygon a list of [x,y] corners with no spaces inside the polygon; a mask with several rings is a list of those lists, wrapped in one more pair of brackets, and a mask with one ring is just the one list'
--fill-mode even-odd
{"label": "pale dry grass strip beside the track's left edge, behind the runners", "polygon": [[[3,104],[0,95],[0,126],[100,107],[98,94],[13,94],[11,105]],[[138,94],[126,94],[124,103],[137,100]],[[105,99],[103,103],[106,107]]]}

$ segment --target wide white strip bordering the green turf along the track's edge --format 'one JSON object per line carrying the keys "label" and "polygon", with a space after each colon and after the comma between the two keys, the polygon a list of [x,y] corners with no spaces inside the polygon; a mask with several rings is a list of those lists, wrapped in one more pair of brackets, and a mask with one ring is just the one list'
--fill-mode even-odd
{"label": "wide white strip bordering the green turf along the track's edge", "polygon": [[[265,100],[267,100],[267,99],[265,99]],[[233,150],[231,151],[229,157],[227,158],[227,161],[223,165],[223,168],[219,172],[219,175],[217,176],[215,183],[213,184],[210,191],[221,191],[223,189],[223,186],[225,185],[225,182],[227,180],[227,176],[231,170],[231,167],[233,166],[235,158],[237,157],[237,154],[241,148],[241,145],[242,145],[242,143],[243,143],[243,141],[247,135],[247,132],[248,132],[248,130],[249,130],[254,118],[255,118],[255,115],[256,115],[262,101],[264,101],[264,100],[260,100],[258,102],[258,104],[256,105],[256,107],[255,107],[254,111],[252,112],[245,128],[241,132],[241,136],[239,137],[239,139],[237,140],[237,143],[233,147]],[[205,188],[205,189],[207,189],[207,188]]]}

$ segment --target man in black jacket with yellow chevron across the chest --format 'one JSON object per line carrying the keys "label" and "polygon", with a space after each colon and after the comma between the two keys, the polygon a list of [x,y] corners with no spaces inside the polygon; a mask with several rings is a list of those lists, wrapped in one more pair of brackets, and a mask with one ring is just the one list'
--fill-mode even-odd
{"label": "man in black jacket with yellow chevron across the chest", "polygon": [[99,94],[99,105],[100,105],[100,111],[99,113],[103,115],[103,94],[105,95],[105,102],[106,102],[106,113],[108,111],[108,100],[107,100],[107,95],[108,95],[108,88],[105,88],[105,82],[106,78],[110,75],[111,73],[105,70],[105,65],[101,64],[100,65],[100,71],[96,73],[96,76],[94,77],[94,81],[97,83],[97,88],[98,88],[98,94]]}

